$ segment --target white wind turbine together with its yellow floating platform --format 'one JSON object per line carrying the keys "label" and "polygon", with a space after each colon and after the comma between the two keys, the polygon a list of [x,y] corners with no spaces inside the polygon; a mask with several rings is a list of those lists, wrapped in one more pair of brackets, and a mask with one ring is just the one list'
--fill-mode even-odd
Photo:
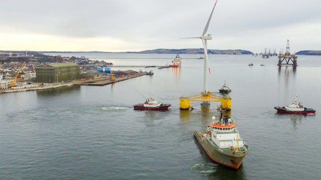
{"label": "white wind turbine together with its yellow floating platform", "polygon": [[207,75],[210,73],[210,68],[208,65],[208,56],[207,56],[207,40],[211,40],[212,36],[211,34],[208,34],[205,36],[205,33],[207,32],[208,25],[210,23],[215,5],[217,0],[215,1],[213,10],[208,18],[207,24],[205,26],[205,29],[200,37],[188,37],[188,38],[200,38],[204,47],[204,82],[203,82],[203,91],[199,95],[195,95],[192,97],[180,97],[180,109],[181,110],[189,110],[190,108],[194,109],[193,106],[190,104],[190,101],[201,101],[201,106],[208,106],[210,101],[221,101],[221,108],[223,110],[231,110],[231,97],[226,95],[224,97],[219,97],[213,95],[210,91],[208,91],[207,86]]}

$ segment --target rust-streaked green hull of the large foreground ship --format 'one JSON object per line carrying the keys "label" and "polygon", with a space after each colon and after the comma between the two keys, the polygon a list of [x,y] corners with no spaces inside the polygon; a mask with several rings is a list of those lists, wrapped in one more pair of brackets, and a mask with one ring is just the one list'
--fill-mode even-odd
{"label": "rust-streaked green hull of the large foreground ship", "polygon": [[204,134],[205,133],[198,130],[194,131],[195,138],[198,140],[202,149],[206,152],[210,159],[234,169],[240,168],[243,158],[250,150],[248,145],[244,144],[246,149],[241,151],[222,150],[215,146],[210,139],[204,137]]}

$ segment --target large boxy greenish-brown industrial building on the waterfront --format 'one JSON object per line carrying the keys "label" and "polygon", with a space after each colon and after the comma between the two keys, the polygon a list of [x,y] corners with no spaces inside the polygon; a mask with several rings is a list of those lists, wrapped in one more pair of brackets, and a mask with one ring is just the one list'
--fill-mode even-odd
{"label": "large boxy greenish-brown industrial building on the waterfront", "polygon": [[80,65],[72,62],[48,63],[36,67],[37,83],[58,83],[80,79]]}

